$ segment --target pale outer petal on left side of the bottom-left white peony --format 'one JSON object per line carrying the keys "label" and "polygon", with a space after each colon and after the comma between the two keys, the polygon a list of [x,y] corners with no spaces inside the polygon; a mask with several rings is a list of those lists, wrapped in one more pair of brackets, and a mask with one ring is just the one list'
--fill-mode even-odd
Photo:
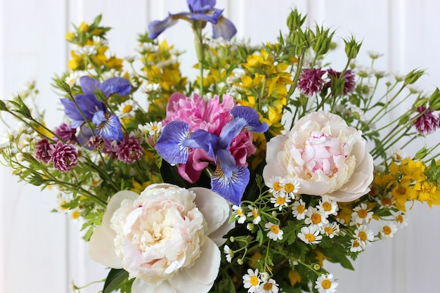
{"label": "pale outer petal on left side of the bottom-left white peony", "polygon": [[96,227],[89,242],[89,255],[91,259],[110,268],[122,268],[122,261],[115,254],[115,231],[110,228],[110,219],[121,206],[122,200],[136,200],[138,194],[129,190],[119,191],[108,202],[103,216],[103,223]]}

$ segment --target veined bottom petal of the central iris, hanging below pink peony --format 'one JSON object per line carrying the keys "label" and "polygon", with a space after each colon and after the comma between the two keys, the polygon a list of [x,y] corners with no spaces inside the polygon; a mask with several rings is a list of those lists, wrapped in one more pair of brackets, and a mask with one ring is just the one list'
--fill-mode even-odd
{"label": "veined bottom petal of the central iris, hanging below pink peony", "polygon": [[211,189],[233,204],[240,205],[249,178],[250,171],[247,167],[238,167],[231,176],[225,176],[224,172],[217,167],[211,178]]}

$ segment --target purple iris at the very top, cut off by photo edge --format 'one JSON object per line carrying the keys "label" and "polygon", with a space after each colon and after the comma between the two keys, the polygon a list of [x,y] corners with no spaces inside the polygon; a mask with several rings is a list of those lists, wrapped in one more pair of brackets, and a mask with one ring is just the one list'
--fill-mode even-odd
{"label": "purple iris at the very top, cut off by photo edge", "polygon": [[164,30],[167,30],[168,27],[174,25],[179,19],[211,22],[214,39],[222,37],[229,40],[237,32],[233,23],[222,15],[223,9],[214,8],[215,0],[187,0],[186,2],[190,12],[169,13],[168,17],[164,20],[153,20],[148,25],[148,37],[150,39],[157,38],[157,36]]}

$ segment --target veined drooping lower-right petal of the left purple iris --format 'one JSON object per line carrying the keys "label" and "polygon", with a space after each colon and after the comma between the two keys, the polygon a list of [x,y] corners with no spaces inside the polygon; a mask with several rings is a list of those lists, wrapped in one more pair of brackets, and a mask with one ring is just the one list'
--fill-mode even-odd
{"label": "veined drooping lower-right petal of the left purple iris", "polygon": [[92,122],[96,125],[96,135],[101,135],[105,139],[122,141],[121,122],[115,114],[97,111],[93,115]]}

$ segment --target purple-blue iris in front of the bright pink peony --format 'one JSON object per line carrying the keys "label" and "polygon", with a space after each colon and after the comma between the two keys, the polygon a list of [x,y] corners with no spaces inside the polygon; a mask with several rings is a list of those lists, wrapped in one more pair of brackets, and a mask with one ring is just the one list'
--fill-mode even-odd
{"label": "purple-blue iris in front of the bright pink peony", "polygon": [[228,122],[219,136],[203,129],[190,132],[186,122],[169,122],[157,140],[157,153],[169,164],[185,164],[189,148],[202,148],[214,159],[216,169],[211,177],[214,192],[239,205],[250,179],[250,171],[245,166],[238,166],[229,152],[235,136],[245,129],[251,132],[265,132],[268,125],[259,122],[257,111],[246,106],[236,106],[230,111],[233,119]]}

